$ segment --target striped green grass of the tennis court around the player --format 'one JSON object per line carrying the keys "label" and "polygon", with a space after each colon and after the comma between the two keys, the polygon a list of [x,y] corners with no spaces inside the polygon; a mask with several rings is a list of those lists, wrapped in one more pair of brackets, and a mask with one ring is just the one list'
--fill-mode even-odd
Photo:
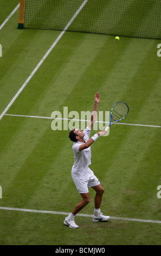
{"label": "striped green grass of the tennis court around the player", "polygon": [[[19,3],[1,0],[0,26]],[[14,98],[60,31],[17,29],[18,10],[0,31],[0,114]],[[160,40],[65,32],[0,120],[1,245],[160,245]],[[63,224],[81,200],[71,176],[69,131],[51,130],[51,113],[99,111],[128,103],[124,122],[92,145],[91,169],[105,188],[106,223],[76,216],[78,230]],[[23,115],[23,116],[22,116]],[[36,118],[37,117],[37,118]],[[44,117],[44,118],[41,118]],[[137,124],[137,125],[134,125]],[[147,126],[144,126],[147,125]],[[91,132],[94,135],[95,131]],[[91,202],[80,212],[92,215]]]}

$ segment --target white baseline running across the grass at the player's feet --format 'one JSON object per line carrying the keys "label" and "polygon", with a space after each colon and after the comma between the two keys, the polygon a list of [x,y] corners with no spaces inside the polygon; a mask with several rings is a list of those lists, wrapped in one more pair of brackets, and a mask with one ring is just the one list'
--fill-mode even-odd
{"label": "white baseline running across the grass at the player's feet", "polygon": [[[10,208],[10,207],[0,207],[0,210],[9,210],[9,211],[24,211],[24,212],[37,212],[41,214],[58,214],[58,215],[69,215],[70,212],[62,212],[62,211],[43,211],[43,210],[33,210],[33,209],[22,209],[22,208]],[[92,217],[93,215],[89,214],[77,214],[76,216],[81,217]],[[150,223],[159,223],[161,221],[154,220],[144,220],[141,218],[124,218],[124,217],[110,217],[112,220],[121,220],[121,221],[138,221],[138,222],[150,222]]]}

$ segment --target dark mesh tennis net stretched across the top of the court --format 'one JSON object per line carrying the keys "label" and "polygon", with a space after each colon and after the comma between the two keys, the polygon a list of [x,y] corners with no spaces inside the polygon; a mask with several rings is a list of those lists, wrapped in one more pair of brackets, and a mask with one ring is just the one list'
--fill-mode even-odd
{"label": "dark mesh tennis net stretched across the top of the court", "polygon": [[[24,28],[60,30],[83,0],[25,0]],[[88,0],[67,31],[161,39],[161,0]]]}

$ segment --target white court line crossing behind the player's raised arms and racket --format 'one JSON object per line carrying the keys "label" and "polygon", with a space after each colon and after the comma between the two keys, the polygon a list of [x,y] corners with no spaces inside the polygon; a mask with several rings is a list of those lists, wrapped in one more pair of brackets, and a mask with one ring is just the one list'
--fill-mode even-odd
{"label": "white court line crossing behind the player's raised arms and racket", "polygon": [[[73,120],[73,121],[86,121],[89,122],[90,120],[81,120],[81,119],[72,119],[72,118],[53,118],[53,117],[38,117],[37,115],[16,115],[16,114],[5,114],[9,115],[11,117],[30,117],[30,118],[43,118],[43,119],[58,119],[58,120]],[[106,121],[95,121],[96,123],[104,123],[109,124],[109,122]],[[134,126],[146,126],[146,127],[155,127],[155,128],[161,128],[159,125],[146,125],[146,124],[125,124],[125,123],[114,123],[114,124],[123,124],[123,125],[134,125]]]}

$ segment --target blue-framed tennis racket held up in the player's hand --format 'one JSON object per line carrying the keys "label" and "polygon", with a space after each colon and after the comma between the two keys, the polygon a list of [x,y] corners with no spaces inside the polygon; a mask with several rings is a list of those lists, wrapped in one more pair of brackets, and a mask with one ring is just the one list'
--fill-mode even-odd
{"label": "blue-framed tennis racket held up in the player's hand", "polygon": [[[129,108],[128,105],[124,101],[118,101],[114,104],[111,109],[111,120],[110,124],[106,127],[105,131],[109,129],[109,127],[115,122],[123,120],[128,114]],[[114,120],[112,123],[112,119]]]}

